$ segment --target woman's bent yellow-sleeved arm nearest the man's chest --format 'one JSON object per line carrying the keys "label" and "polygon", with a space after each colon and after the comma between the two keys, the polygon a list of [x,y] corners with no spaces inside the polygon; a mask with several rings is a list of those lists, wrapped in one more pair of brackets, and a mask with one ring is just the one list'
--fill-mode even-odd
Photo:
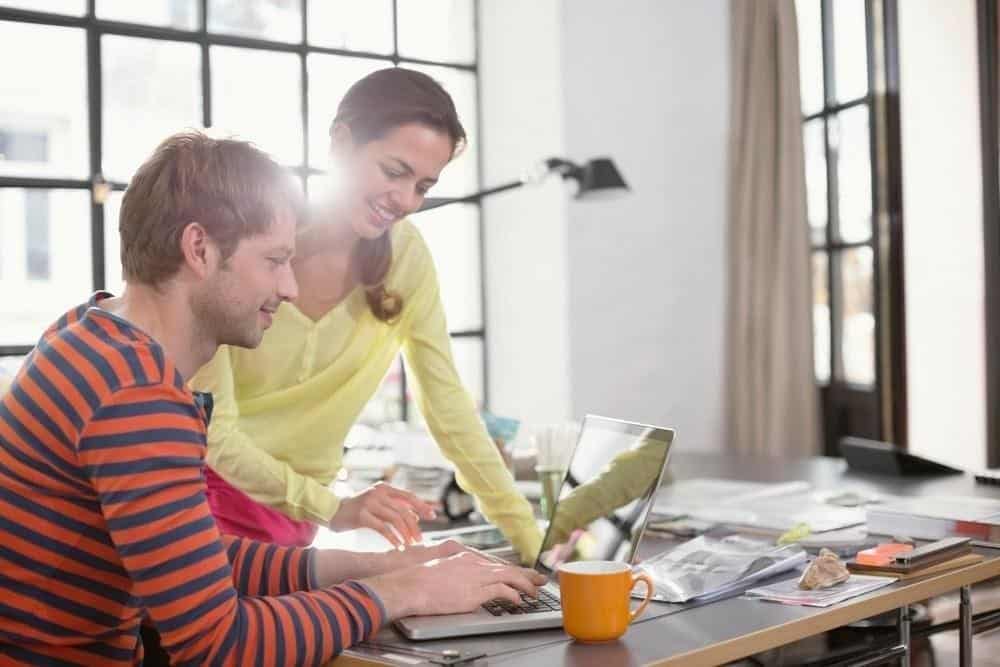
{"label": "woman's bent yellow-sleeved arm nearest the man's chest", "polygon": [[208,465],[259,503],[292,519],[329,524],[340,507],[333,492],[258,448],[250,435],[240,430],[228,346],[219,348],[212,361],[202,366],[191,386],[211,392],[214,399],[208,428]]}

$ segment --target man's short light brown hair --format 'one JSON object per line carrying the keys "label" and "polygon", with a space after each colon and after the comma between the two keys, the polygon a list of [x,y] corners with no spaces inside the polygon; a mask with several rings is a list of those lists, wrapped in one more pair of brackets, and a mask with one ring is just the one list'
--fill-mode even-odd
{"label": "man's short light brown hair", "polygon": [[188,131],[167,137],[132,178],[118,217],[122,273],[159,285],[181,266],[180,238],[197,222],[223,259],[276,215],[301,219],[291,175],[252,144]]}

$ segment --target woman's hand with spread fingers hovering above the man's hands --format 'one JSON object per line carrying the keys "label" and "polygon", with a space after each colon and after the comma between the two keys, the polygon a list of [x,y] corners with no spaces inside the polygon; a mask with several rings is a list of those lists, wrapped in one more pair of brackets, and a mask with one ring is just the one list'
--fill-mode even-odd
{"label": "woman's hand with spread fingers hovering above the man's hands", "polygon": [[371,528],[394,547],[401,547],[419,542],[422,535],[418,521],[435,516],[434,508],[412,493],[379,482],[342,500],[330,528]]}

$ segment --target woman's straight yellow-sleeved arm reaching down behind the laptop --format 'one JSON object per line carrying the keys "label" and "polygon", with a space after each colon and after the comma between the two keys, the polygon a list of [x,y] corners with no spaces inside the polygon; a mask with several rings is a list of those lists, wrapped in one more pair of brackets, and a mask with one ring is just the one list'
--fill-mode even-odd
{"label": "woman's straight yellow-sleeved arm reaching down behind the laptop", "polygon": [[542,536],[531,505],[518,493],[500,452],[486,433],[451,355],[437,275],[426,253],[411,303],[403,352],[415,380],[420,411],[442,453],[455,464],[459,485],[479,499],[486,518],[510,539],[523,561],[535,558]]}

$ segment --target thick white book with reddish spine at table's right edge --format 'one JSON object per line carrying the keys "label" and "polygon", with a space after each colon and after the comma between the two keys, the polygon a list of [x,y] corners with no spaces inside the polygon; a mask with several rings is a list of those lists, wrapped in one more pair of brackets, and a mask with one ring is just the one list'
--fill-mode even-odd
{"label": "thick white book with reddish spine at table's right edge", "polygon": [[896,498],[867,508],[868,532],[939,540],[972,537],[1000,541],[1000,500],[976,496]]}

